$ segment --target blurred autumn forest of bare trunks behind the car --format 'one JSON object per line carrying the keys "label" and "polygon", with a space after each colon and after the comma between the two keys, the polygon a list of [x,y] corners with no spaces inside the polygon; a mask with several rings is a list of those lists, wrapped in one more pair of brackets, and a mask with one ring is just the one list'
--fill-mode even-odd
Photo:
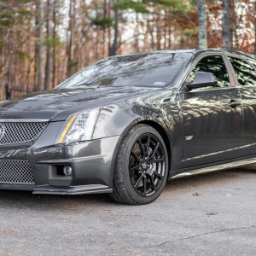
{"label": "blurred autumn forest of bare trunks behind the car", "polygon": [[255,0],[0,0],[0,101],[50,90],[108,55],[256,54]]}

